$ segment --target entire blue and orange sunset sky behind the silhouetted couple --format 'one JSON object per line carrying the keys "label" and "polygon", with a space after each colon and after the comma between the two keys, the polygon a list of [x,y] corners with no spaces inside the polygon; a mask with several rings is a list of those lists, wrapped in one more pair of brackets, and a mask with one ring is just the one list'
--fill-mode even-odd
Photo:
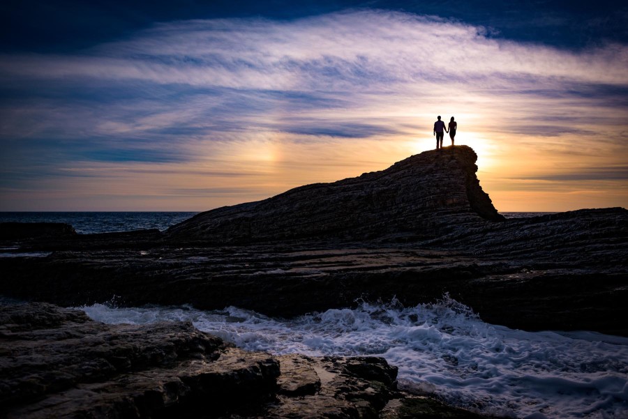
{"label": "entire blue and orange sunset sky behind the silhouetted couple", "polygon": [[500,212],[628,207],[624,1],[8,0],[0,20],[0,211],[256,201],[435,148],[437,115]]}

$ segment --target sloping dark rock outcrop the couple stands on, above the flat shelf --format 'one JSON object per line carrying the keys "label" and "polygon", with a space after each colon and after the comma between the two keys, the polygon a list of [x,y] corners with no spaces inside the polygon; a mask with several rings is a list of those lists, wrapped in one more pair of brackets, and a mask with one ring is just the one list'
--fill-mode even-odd
{"label": "sloping dark rock outcrop the couple stands on, above the flat shelf", "polygon": [[168,229],[167,238],[218,244],[429,238],[442,236],[452,223],[501,221],[479,185],[476,161],[468,146],[426,151],[381,172],[200,213]]}

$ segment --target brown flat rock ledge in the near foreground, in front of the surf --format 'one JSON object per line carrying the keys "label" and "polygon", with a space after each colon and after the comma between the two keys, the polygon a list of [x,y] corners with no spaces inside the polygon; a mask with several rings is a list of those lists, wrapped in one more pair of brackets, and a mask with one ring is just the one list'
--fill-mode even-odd
{"label": "brown flat rock ledge in the near foreground, in front of the surf", "polygon": [[243,351],[189,322],[105,325],[47,303],[0,306],[7,419],[480,417],[403,394],[396,375],[383,358]]}

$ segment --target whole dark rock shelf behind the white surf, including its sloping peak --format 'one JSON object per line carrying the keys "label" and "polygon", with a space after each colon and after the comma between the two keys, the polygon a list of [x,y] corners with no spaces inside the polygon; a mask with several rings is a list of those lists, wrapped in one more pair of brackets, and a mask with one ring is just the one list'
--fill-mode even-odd
{"label": "whole dark rock shelf behind the white surf, including its sloping peak", "polygon": [[[484,321],[628,335],[628,211],[504,220],[466,146],[156,230],[0,241],[0,294],[59,305],[234,305],[292,317],[449,294]],[[29,252],[39,252],[30,254]]]}

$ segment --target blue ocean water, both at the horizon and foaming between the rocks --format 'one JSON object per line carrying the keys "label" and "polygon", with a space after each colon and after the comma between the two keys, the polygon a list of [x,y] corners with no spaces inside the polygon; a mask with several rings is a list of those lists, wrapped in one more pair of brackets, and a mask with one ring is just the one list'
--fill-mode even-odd
{"label": "blue ocean water, both at the horizon and foaming between the rocks", "polygon": [[[10,215],[8,215],[10,214]],[[17,215],[16,215],[17,214]],[[0,213],[0,221],[67,222],[83,233],[166,229],[194,213]],[[507,218],[539,213],[505,213]],[[502,418],[628,418],[628,338],[525,332],[486,323],[448,296],[278,319],[225,307],[77,307],[105,323],[189,320],[244,349],[309,356],[382,356],[399,386]]]}

